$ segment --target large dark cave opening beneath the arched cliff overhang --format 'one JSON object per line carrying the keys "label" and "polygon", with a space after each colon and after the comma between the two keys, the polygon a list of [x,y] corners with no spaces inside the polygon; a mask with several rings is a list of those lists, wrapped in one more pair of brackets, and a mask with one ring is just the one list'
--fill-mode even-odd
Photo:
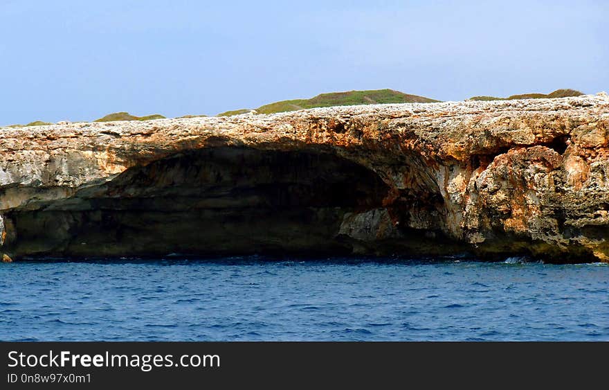
{"label": "large dark cave opening beneath the arched cliff overhang", "polygon": [[209,148],[10,211],[6,247],[34,256],[349,254],[337,239],[345,215],[382,207],[388,190],[331,153]]}

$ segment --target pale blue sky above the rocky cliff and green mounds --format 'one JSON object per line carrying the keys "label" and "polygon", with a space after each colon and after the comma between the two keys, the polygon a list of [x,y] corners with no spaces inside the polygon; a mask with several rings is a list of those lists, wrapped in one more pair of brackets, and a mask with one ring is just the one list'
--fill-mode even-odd
{"label": "pale blue sky above the rocky cliff and green mounds", "polygon": [[609,90],[609,1],[0,0],[0,125]]}

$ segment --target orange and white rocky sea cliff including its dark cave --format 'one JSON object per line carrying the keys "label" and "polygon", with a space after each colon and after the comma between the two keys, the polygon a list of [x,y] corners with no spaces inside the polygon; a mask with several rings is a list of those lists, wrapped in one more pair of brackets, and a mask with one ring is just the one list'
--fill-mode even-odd
{"label": "orange and white rocky sea cliff including its dark cave", "polygon": [[608,130],[606,94],[5,128],[0,253],[607,262]]}

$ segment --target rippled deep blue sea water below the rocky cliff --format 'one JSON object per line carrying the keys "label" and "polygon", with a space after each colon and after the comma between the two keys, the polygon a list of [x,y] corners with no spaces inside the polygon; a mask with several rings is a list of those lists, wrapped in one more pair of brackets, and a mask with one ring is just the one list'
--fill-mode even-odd
{"label": "rippled deep blue sea water below the rocky cliff", "polygon": [[0,264],[0,339],[609,340],[609,266],[262,257]]}

